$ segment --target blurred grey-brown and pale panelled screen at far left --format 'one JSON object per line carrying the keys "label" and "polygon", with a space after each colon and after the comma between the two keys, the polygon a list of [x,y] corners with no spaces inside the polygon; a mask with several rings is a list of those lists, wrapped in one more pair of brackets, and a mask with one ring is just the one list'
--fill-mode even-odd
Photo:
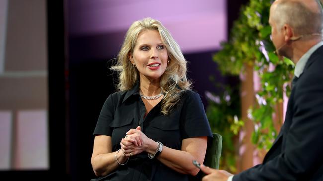
{"label": "blurred grey-brown and pale panelled screen at far left", "polygon": [[45,0],[0,0],[0,170],[47,170]]}

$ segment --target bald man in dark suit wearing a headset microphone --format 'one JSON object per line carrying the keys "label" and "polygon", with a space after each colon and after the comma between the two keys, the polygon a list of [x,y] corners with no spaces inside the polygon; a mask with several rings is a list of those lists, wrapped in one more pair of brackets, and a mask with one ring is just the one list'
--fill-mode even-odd
{"label": "bald man in dark suit wearing a headset microphone", "polygon": [[276,0],[276,52],[295,64],[284,124],[263,163],[239,174],[201,165],[202,181],[323,181],[323,13],[315,0]]}

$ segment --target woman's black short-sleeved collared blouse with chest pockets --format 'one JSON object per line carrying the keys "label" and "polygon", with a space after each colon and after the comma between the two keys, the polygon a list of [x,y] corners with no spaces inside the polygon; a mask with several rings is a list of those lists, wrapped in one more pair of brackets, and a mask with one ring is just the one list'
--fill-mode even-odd
{"label": "woman's black short-sleeved collared blouse with chest pockets", "polygon": [[[141,126],[141,131],[164,146],[181,150],[186,138],[209,136],[212,132],[198,93],[187,90],[168,115],[161,113],[159,102],[144,118],[145,105],[139,95],[139,84],[129,91],[111,94],[105,101],[93,135],[112,137],[112,151],[119,150],[121,139],[131,128]],[[130,157],[107,176],[96,181],[188,181],[188,175],[150,159],[146,152]]]}

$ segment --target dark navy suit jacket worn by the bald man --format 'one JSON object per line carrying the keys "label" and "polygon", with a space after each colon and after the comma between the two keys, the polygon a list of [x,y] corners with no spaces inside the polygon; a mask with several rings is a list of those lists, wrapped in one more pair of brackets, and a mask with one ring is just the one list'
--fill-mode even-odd
{"label": "dark navy suit jacket worn by the bald man", "polygon": [[295,82],[284,124],[263,163],[233,181],[323,181],[323,46]]}

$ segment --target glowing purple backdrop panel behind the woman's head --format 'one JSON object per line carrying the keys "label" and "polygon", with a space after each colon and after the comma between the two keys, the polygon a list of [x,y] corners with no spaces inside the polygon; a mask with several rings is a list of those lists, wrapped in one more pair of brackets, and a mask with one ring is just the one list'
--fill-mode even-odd
{"label": "glowing purple backdrop panel behind the woman's head", "polygon": [[227,38],[226,0],[69,0],[68,9],[72,38],[124,35],[145,17],[160,20],[184,53],[219,49]]}

